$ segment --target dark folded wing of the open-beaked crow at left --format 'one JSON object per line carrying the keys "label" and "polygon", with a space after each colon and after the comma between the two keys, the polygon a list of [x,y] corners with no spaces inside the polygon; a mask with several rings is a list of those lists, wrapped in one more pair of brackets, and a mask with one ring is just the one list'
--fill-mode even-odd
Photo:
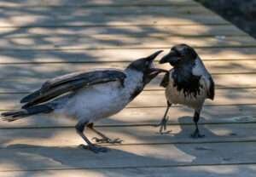
{"label": "dark folded wing of the open-beaked crow at left", "polygon": [[90,87],[98,83],[119,81],[122,85],[125,80],[123,71],[108,69],[88,72],[74,72],[61,77],[55,77],[45,82],[40,89],[20,100],[26,103],[22,108],[38,105],[79,88]]}

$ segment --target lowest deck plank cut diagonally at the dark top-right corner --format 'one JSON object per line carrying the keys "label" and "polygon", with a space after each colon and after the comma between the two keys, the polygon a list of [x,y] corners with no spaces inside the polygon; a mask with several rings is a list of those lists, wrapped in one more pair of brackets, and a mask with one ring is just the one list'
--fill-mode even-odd
{"label": "lowest deck plank cut diagonally at the dark top-right corner", "polygon": [[[1,3],[1,2],[0,2]],[[209,37],[216,36],[247,36],[236,26],[228,25],[191,25],[191,26],[88,26],[88,27],[5,27],[0,31],[1,39],[13,39],[17,37],[90,37],[115,35],[141,36],[141,37]]]}

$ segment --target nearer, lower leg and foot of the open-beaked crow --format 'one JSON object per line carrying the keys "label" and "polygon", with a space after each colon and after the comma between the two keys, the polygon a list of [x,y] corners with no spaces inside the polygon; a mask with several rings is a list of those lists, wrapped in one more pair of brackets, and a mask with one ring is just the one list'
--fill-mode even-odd
{"label": "nearer, lower leg and foot of the open-beaked crow", "polygon": [[100,146],[95,146],[93,145],[90,140],[87,139],[87,137],[84,135],[84,127],[87,123],[82,123],[79,122],[76,124],[75,128],[77,130],[77,133],[84,139],[84,141],[87,143],[87,146],[85,145],[80,145],[81,147],[83,147],[84,149],[88,149],[90,151],[93,151],[95,153],[98,152],[106,152],[108,149],[105,147],[100,147]]}

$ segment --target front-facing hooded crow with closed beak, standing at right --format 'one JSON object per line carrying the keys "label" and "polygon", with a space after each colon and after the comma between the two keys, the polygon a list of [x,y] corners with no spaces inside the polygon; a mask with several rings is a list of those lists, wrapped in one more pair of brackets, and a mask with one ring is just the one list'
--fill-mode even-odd
{"label": "front-facing hooded crow with closed beak, standing at right", "polygon": [[173,66],[169,73],[166,73],[160,86],[166,88],[167,108],[159,126],[160,133],[166,129],[166,115],[172,104],[189,106],[195,110],[194,123],[195,132],[193,138],[201,138],[198,121],[201,108],[206,99],[214,99],[214,83],[211,74],[202,63],[201,58],[196,54],[195,49],[186,44],[179,44],[172,47],[169,54],[166,54],[160,64],[170,63]]}

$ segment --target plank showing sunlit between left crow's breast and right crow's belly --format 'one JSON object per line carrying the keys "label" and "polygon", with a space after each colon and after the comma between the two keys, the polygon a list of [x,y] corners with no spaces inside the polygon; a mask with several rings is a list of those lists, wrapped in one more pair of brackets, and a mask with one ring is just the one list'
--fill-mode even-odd
{"label": "plank showing sunlit between left crow's breast and right crow's belly", "polygon": [[[207,106],[224,106],[224,105],[251,105],[256,100],[255,88],[244,89],[218,89],[216,90],[216,99],[207,100]],[[26,94],[0,94],[1,109],[11,110],[20,107],[20,99]],[[234,101],[235,100],[235,101]],[[137,96],[128,107],[155,107],[166,106],[166,98],[163,90],[144,91]]]}

